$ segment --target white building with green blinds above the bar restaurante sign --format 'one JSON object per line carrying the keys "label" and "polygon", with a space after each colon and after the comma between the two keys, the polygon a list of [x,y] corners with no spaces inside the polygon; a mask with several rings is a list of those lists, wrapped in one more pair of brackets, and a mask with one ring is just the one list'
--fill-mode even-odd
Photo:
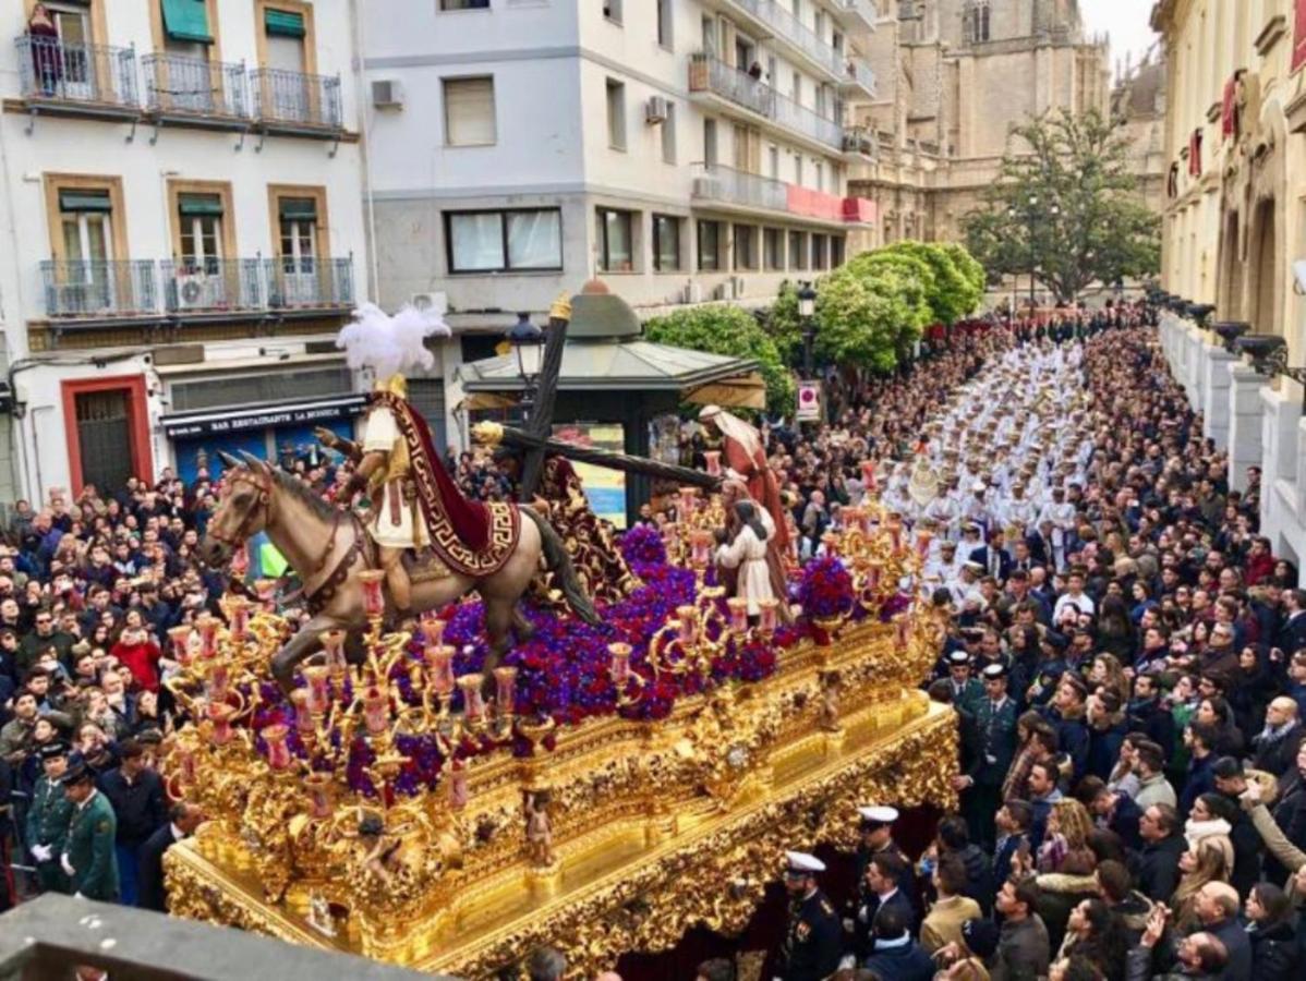
{"label": "white building with green blinds above the bar restaurante sign", "polygon": [[333,338],[366,293],[355,4],[44,7],[0,13],[0,499],[351,428]]}

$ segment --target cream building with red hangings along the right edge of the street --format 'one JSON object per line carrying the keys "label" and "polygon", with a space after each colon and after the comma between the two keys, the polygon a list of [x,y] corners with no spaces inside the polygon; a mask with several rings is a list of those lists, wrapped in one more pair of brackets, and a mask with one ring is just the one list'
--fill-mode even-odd
{"label": "cream building with red hangings along the right edge of the street", "polygon": [[[1281,337],[1302,363],[1306,256],[1306,3],[1162,0],[1152,12],[1166,57],[1162,286]],[[1303,389],[1258,374],[1190,319],[1166,316],[1166,355],[1208,436],[1245,487],[1262,469],[1262,529],[1275,551],[1306,556]]]}

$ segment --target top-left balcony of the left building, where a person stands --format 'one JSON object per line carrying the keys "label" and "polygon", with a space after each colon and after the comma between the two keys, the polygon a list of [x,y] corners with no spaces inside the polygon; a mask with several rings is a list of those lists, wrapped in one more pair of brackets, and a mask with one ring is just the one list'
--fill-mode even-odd
{"label": "top-left balcony of the left building, where a person stands", "polygon": [[136,51],[103,44],[68,44],[24,35],[18,48],[18,90],[42,111],[133,116],[140,111]]}

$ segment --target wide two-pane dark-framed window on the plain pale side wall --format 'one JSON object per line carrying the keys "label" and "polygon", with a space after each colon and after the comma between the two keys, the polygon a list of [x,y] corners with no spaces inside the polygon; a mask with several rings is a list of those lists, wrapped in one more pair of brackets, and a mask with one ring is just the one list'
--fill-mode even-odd
{"label": "wide two-pane dark-framed window on the plain pale side wall", "polygon": [[563,222],[556,208],[447,212],[451,273],[563,268]]}

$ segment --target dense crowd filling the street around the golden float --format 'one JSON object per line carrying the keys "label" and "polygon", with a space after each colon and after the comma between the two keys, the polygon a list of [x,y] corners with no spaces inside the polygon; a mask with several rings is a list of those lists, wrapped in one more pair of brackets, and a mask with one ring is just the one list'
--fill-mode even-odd
{"label": "dense crowd filling the street around the golden float", "polygon": [[[863,815],[857,895],[827,899],[791,858],[780,976],[1306,976],[1306,592],[1258,534],[1259,473],[1230,486],[1141,306],[974,325],[923,364],[841,380],[828,423],[763,425],[801,556],[866,495],[932,534],[951,626],[929,691],[961,732],[960,812],[918,861],[884,807]],[[683,462],[707,448],[687,425]],[[447,464],[473,496],[511,495],[487,457]],[[328,499],[349,478],[289,465]],[[18,506],[0,904],[163,908],[162,852],[202,819],[157,771],[179,721],[165,641],[240,588],[195,559],[215,490],[165,473]]]}

